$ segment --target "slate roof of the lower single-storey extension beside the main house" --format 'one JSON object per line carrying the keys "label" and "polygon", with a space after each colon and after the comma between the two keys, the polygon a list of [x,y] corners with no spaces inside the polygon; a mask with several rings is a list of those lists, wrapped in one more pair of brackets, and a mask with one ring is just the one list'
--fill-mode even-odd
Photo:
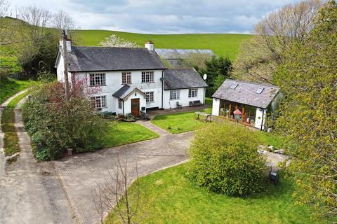
{"label": "slate roof of the lower single-storey extension beside the main house", "polygon": [[167,69],[164,71],[164,90],[208,87],[193,68]]}

